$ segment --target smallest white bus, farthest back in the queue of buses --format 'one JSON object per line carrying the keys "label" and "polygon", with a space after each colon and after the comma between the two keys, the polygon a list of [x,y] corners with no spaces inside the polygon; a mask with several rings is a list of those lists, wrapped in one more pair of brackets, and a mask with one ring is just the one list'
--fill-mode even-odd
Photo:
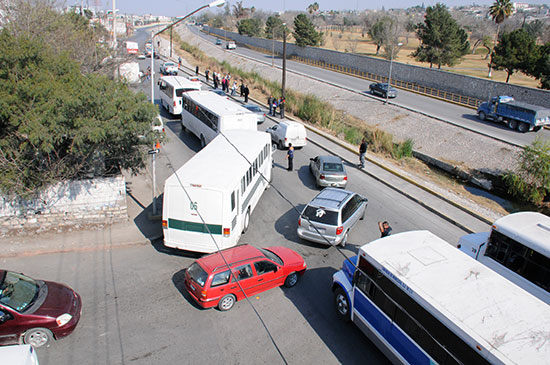
{"label": "smallest white bus, farthest back in the queue of buses", "polygon": [[163,76],[159,82],[160,105],[170,114],[181,115],[182,96],[188,91],[200,91],[201,83],[193,82],[183,76]]}

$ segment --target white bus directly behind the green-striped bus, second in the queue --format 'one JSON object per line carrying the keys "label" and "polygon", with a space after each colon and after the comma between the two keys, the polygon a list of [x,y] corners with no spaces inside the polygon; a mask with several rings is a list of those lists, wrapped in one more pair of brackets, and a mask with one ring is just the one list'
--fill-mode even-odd
{"label": "white bus directly behind the green-striped bus, second in the queue", "polygon": [[201,147],[210,143],[219,132],[258,129],[255,114],[211,91],[189,92],[183,96],[181,126],[197,136]]}

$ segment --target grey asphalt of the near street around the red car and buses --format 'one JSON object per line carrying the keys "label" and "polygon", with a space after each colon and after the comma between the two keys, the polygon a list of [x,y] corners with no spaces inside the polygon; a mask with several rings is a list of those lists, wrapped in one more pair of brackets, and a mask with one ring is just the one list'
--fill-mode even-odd
{"label": "grey asphalt of the near street around the red car and buses", "polygon": [[[143,68],[150,60],[140,62]],[[141,88],[147,92],[150,86]],[[198,140],[182,133],[178,120],[165,121],[168,141],[157,160],[161,188],[166,177],[199,149]],[[259,129],[272,124],[266,121]],[[294,288],[273,289],[251,302],[290,364],[384,364],[387,360],[378,349],[353,324],[336,316],[330,285],[342,254],[296,235],[294,207],[301,210],[318,192],[308,172],[309,158],[326,153],[313,143],[297,150],[294,172],[286,170],[285,151],[274,153],[273,188],[264,193],[240,243],[292,248],[304,257],[308,271]],[[378,238],[377,221],[383,219],[391,222],[394,232],[429,229],[452,244],[464,234],[354,166],[347,166],[347,171],[349,190],[363,194],[369,203],[365,220],[351,232],[342,251],[345,255],[354,255],[359,246]],[[42,365],[283,362],[247,302],[229,312],[201,310],[192,303],[184,289],[183,270],[196,255],[168,250],[161,242],[111,248],[109,232],[105,233],[103,249],[2,260],[3,268],[66,283],[83,298],[76,331],[38,349]]]}

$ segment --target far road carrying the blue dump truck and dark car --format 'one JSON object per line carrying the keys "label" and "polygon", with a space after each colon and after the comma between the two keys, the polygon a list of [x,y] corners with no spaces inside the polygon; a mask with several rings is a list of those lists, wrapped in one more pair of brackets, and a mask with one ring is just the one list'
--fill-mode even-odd
{"label": "far road carrying the blue dump truck and dark car", "polygon": [[[188,29],[193,33],[199,35],[200,37],[203,37],[205,39],[208,39],[212,43],[215,43],[216,36],[211,36],[200,32],[200,28],[196,26],[188,26]],[[255,60],[257,62],[263,62],[267,64],[272,63],[271,55],[253,51],[246,47],[237,47],[236,50],[232,50],[231,52],[238,53],[240,55],[248,57],[250,60]],[[276,67],[282,67],[282,59],[275,58],[274,63]],[[322,80],[333,85],[341,86],[346,89],[361,93],[365,95],[365,97],[375,98],[380,100],[380,102],[384,101],[384,99],[382,98],[368,94],[371,81],[289,60],[287,60],[286,62],[286,68],[287,72],[297,72],[317,80]],[[479,120],[477,118],[475,110],[473,109],[430,98],[406,90],[398,90],[398,97],[391,100],[391,103],[403,106],[409,110],[419,111],[428,116],[432,116],[443,121],[448,121],[468,130],[475,131],[477,133],[518,146],[529,145],[537,137],[543,140],[550,141],[550,130],[541,130],[537,133],[519,133],[517,131],[512,131],[508,129],[508,127],[506,127],[504,124]]]}

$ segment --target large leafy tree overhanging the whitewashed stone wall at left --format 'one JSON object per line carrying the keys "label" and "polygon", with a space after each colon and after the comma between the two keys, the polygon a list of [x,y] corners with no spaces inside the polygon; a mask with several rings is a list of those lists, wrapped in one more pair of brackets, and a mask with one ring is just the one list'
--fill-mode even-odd
{"label": "large leafy tree overhanging the whitewashed stone wall at left", "polygon": [[104,30],[50,3],[3,3],[10,18],[0,32],[5,197],[31,198],[60,181],[137,171],[154,139],[156,107],[114,79],[116,63],[100,42]]}

